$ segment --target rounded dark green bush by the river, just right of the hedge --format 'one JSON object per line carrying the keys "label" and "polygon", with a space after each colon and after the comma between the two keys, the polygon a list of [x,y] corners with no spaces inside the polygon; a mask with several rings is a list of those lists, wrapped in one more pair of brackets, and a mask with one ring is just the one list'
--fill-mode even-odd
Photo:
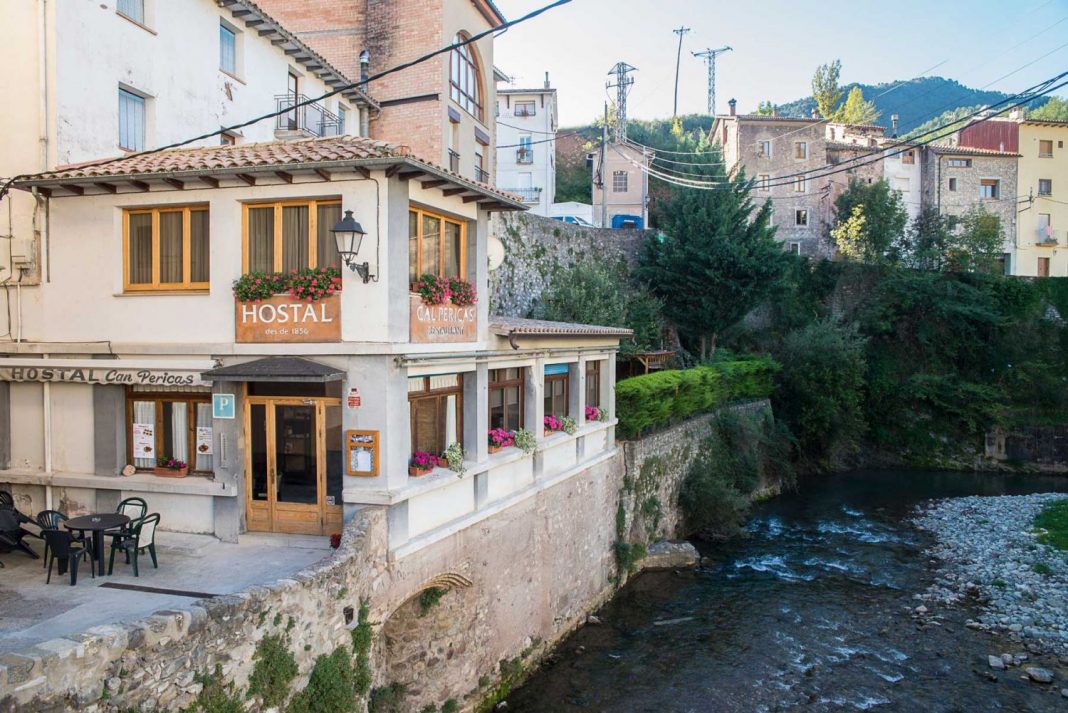
{"label": "rounded dark green bush by the river, just right of the hedge", "polygon": [[864,431],[864,339],[855,328],[818,320],[786,335],[775,351],[775,413],[803,460],[827,468],[857,448]]}

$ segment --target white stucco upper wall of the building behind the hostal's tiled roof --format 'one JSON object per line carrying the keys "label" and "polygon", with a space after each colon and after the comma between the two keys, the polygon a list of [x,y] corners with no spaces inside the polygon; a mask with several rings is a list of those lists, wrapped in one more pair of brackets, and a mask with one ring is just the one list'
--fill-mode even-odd
{"label": "white stucco upper wall of the building behind the hostal's tiled roof", "polygon": [[[327,84],[292,61],[268,37],[234,19],[210,0],[150,0],[148,28],[115,12],[114,0],[63,2],[56,17],[58,164],[115,156],[120,84],[152,97],[147,146],[159,146],[273,111],[290,69],[301,93],[315,96]],[[154,16],[154,17],[153,17]],[[238,77],[219,68],[219,25],[238,30]],[[336,113],[337,97],[326,101]],[[346,106],[347,101],[342,100]],[[358,130],[355,107],[346,127]],[[241,129],[244,142],[274,139],[274,120]],[[219,143],[218,138],[201,142]]]}

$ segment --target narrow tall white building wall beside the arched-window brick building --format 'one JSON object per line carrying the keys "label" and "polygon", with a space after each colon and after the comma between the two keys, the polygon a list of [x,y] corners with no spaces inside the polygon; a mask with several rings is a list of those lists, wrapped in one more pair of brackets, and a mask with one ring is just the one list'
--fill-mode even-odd
{"label": "narrow tall white building wall beside the arched-window brick building", "polygon": [[[517,101],[533,101],[534,115],[516,115]],[[556,195],[556,91],[500,90],[497,97],[497,186],[521,195],[531,212],[549,216]],[[519,156],[520,138],[529,136],[529,157]],[[540,190],[538,190],[540,189]]]}

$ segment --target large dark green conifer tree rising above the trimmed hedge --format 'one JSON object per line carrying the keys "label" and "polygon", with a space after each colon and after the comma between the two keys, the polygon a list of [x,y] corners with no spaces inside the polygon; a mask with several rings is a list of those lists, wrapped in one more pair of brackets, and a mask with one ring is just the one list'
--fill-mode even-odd
{"label": "large dark green conifer tree rising above the trimmed hedge", "polygon": [[786,269],[770,225],[771,202],[756,208],[744,173],[727,176],[719,152],[704,144],[688,171],[708,189],[679,188],[664,210],[664,236],[644,243],[638,274],[664,305],[664,316],[701,358],[719,334],[763,301]]}

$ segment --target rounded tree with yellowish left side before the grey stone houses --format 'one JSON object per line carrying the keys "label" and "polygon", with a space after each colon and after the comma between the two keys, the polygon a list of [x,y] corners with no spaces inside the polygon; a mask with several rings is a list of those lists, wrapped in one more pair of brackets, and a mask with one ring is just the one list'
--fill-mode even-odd
{"label": "rounded tree with yellowish left side before the grey stone houses", "polygon": [[901,194],[884,179],[851,179],[834,201],[834,216],[831,236],[836,243],[842,239],[838,249],[845,256],[874,265],[898,262],[909,213]]}

